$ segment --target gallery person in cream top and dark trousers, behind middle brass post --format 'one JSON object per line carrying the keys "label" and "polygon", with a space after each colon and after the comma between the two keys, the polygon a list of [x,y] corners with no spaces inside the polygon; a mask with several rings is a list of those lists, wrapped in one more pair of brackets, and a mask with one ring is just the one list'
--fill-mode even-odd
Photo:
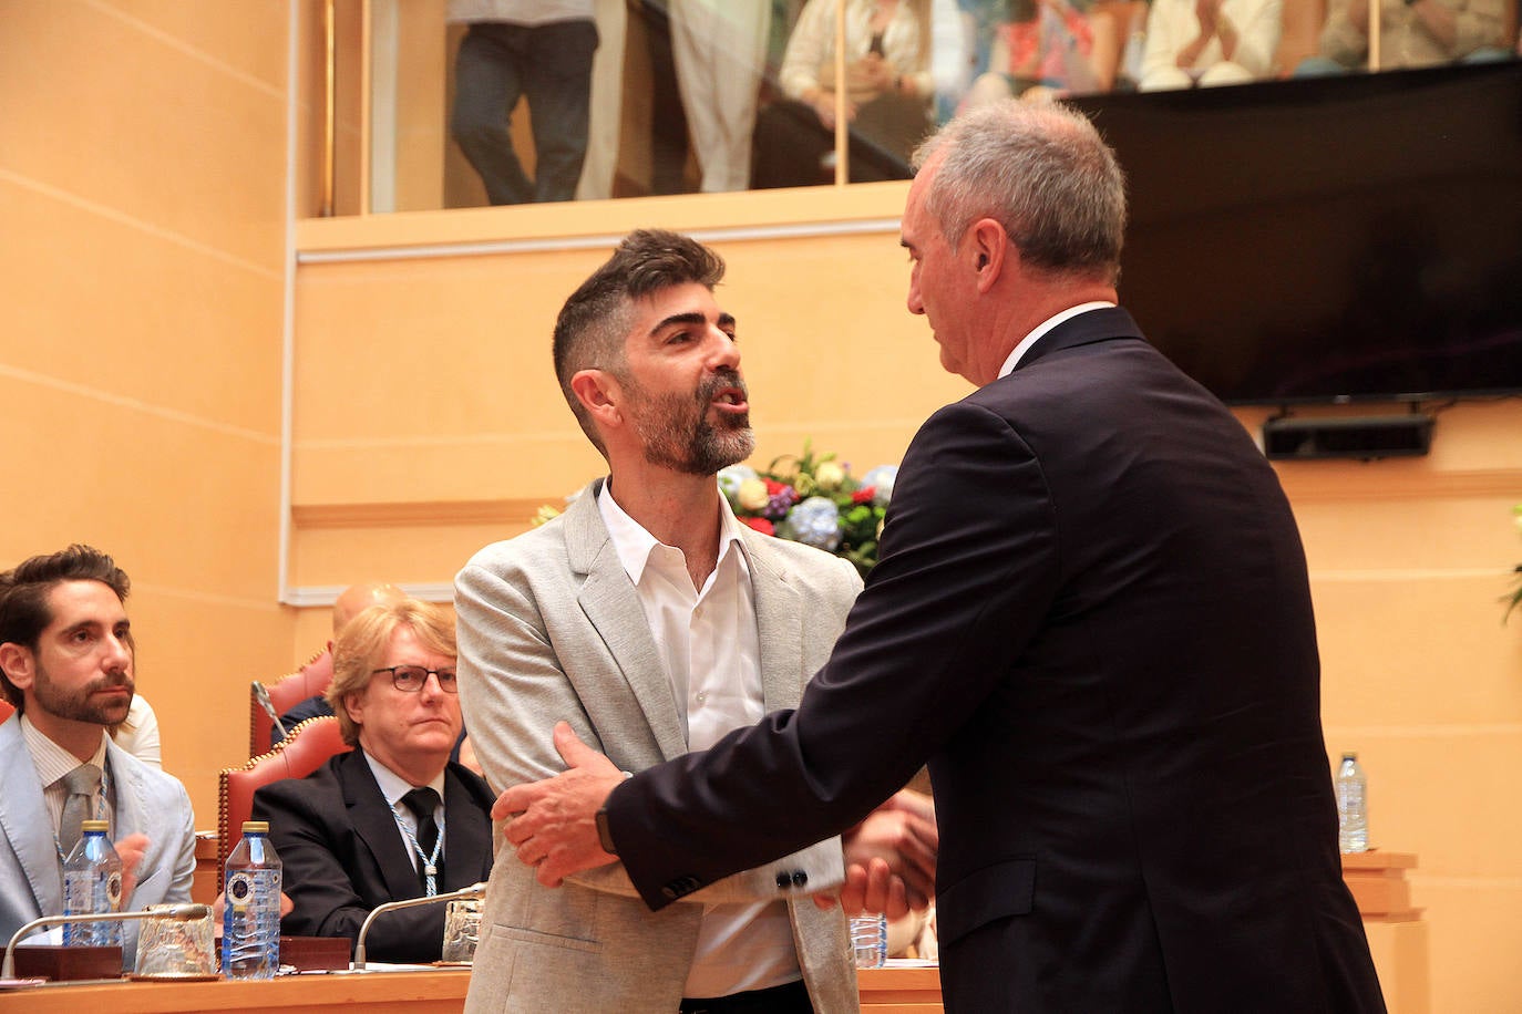
{"label": "gallery person in cream top and dark trousers, behind middle brass post", "polygon": [[787,99],[756,117],[750,185],[822,182],[836,140],[836,9],[846,5],[851,179],[909,179],[931,128],[930,0],[808,0],[779,73]]}

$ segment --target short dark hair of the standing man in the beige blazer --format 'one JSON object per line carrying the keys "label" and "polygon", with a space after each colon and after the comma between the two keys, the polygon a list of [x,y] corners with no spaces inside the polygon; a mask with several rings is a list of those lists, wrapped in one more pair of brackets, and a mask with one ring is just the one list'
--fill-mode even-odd
{"label": "short dark hair of the standing man in the beige blazer", "polygon": [[635,299],[693,281],[712,292],[723,277],[724,258],[696,239],[665,230],[636,230],[560,307],[554,336],[556,379],[581,432],[604,458],[607,448],[571,389],[571,377],[581,369],[615,374],[622,369]]}

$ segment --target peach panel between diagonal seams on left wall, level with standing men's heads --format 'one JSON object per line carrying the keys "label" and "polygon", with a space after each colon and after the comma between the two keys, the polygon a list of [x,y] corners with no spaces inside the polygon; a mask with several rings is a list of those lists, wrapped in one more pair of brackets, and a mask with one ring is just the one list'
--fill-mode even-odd
{"label": "peach panel between diagonal seams on left wall, level with standing men's heads", "polygon": [[0,368],[280,433],[283,286],[163,234],[0,179]]}

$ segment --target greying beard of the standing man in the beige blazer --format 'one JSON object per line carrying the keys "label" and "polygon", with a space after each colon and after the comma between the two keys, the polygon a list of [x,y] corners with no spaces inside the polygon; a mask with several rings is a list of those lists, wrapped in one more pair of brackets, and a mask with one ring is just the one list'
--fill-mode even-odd
{"label": "greying beard of the standing man in the beige blazer", "polygon": [[714,394],[723,388],[746,389],[744,380],[732,369],[715,372],[699,385],[693,397],[664,394],[650,397],[638,383],[626,380],[638,398],[635,432],[645,447],[645,461],[691,476],[714,476],[720,468],[735,465],[750,456],[756,438],[750,429],[750,414],[718,417],[709,421]]}

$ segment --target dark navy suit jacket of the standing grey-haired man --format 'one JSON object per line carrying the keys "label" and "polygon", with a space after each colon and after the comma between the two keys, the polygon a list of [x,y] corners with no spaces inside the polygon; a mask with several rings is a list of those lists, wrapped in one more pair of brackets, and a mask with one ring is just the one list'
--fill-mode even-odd
{"label": "dark navy suit jacket of the standing grey-haired man", "polygon": [[635,775],[612,835],[658,908],[925,760],[947,1009],[1383,1009],[1289,503],[1123,310],[925,423],[799,708]]}

